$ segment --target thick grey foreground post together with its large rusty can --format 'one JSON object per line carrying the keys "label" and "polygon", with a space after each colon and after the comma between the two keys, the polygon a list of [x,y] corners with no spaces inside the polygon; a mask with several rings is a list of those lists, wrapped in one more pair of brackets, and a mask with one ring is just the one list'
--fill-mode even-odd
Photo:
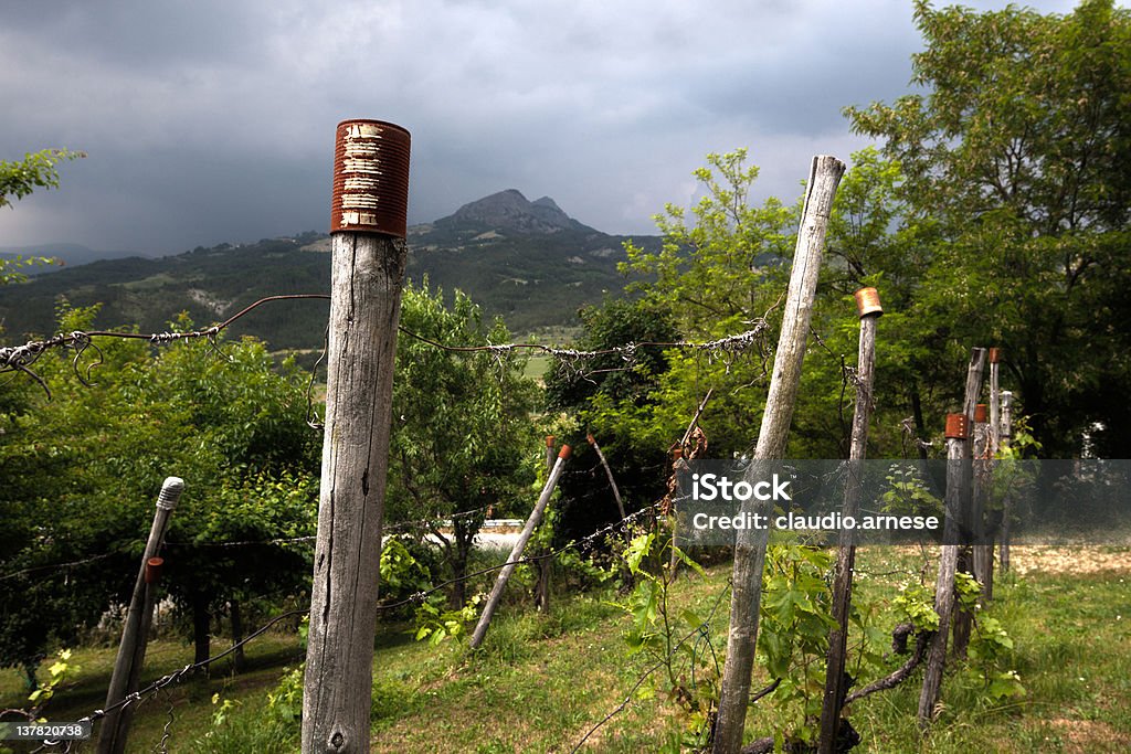
{"label": "thick grey foreground post together with its large rusty can", "polygon": [[305,754],[369,752],[381,515],[405,272],[406,130],[337,128],[326,428],[303,686]]}

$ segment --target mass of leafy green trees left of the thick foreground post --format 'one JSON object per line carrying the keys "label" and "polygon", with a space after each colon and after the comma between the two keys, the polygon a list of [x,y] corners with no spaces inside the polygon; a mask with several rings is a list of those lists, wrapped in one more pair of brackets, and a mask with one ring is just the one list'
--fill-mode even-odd
{"label": "mass of leafy green trees left of the thick foreground post", "polygon": [[[93,315],[64,311],[60,329],[86,329]],[[36,362],[52,400],[29,379],[6,385],[0,574],[17,575],[0,581],[0,662],[32,666],[124,601],[166,476],[184,478],[185,492],[165,586],[195,612],[198,653],[225,604],[303,589],[309,546],[218,545],[313,534],[318,435],[305,423],[305,380],[293,365],[276,370],[257,341],[217,348],[100,339]]]}

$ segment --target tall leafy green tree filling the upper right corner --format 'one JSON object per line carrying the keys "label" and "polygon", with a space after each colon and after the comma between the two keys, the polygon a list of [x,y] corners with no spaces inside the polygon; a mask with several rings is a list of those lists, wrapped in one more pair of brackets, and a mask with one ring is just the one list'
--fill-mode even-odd
{"label": "tall leafy green tree filling the upper right corner", "polygon": [[915,5],[927,89],[849,107],[906,176],[915,222],[938,224],[915,315],[934,339],[999,345],[1036,437],[1126,457],[1131,378],[1131,14],[1065,16]]}

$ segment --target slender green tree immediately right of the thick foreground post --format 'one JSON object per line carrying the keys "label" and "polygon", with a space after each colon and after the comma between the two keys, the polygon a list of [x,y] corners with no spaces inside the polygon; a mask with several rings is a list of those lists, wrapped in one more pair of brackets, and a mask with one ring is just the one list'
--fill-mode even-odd
{"label": "slender green tree immediately right of the thick foreground post", "polygon": [[[405,329],[446,346],[510,340],[502,322],[483,322],[461,292],[449,309],[426,280],[405,289],[400,311]],[[448,560],[456,579],[466,573],[485,509],[518,513],[533,502],[524,493],[538,449],[530,422],[535,385],[523,369],[521,359],[491,352],[443,350],[408,335],[397,341],[386,520],[451,517]],[[460,581],[452,603],[464,601]]]}

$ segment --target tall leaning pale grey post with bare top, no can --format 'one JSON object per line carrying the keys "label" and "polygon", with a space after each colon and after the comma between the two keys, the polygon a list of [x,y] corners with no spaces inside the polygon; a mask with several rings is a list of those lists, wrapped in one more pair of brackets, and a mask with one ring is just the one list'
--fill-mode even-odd
{"label": "tall leaning pale grey post with bare top, no can", "polygon": [[[774,357],[774,376],[754,449],[756,460],[782,458],[785,453],[801,380],[801,365],[805,358],[805,340],[821,269],[824,233],[829,225],[832,199],[844,172],[845,164],[836,157],[813,157],[793,255],[793,270],[789,274],[782,335]],[[757,468],[757,463],[753,468]],[[768,530],[743,530],[735,540],[731,630],[726,641],[726,664],[723,668],[718,721],[715,726],[715,754],[734,754],[742,746],[750,699],[750,673],[758,641],[758,610],[762,598],[762,570],[766,566],[768,538]]]}

